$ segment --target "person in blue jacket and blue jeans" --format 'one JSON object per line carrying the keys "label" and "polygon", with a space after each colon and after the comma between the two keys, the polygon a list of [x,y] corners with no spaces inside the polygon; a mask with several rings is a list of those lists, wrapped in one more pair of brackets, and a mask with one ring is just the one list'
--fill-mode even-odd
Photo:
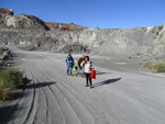
{"label": "person in blue jacket and blue jeans", "polygon": [[68,54],[68,57],[66,58],[66,64],[67,64],[67,75],[72,76],[72,69],[73,69],[73,66],[74,66],[74,58],[72,57],[70,54]]}

